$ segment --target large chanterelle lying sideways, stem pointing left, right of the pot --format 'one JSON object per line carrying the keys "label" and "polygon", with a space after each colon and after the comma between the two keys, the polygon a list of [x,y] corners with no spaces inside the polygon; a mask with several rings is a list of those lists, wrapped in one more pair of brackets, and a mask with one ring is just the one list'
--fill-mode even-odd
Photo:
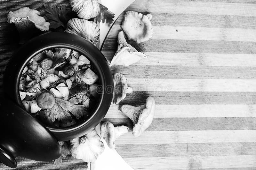
{"label": "large chanterelle lying sideways, stem pointing left, right of the pot", "polygon": [[146,104],[134,107],[131,105],[123,105],[120,110],[129,117],[133,122],[133,132],[135,137],[140,136],[152,123],[155,115],[155,100],[153,97],[148,97]]}

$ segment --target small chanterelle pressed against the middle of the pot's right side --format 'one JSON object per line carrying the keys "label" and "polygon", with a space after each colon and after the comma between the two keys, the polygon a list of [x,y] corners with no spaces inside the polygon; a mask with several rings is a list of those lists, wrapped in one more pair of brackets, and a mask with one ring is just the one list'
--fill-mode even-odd
{"label": "small chanterelle pressed against the middle of the pot's right side", "polygon": [[128,87],[126,77],[121,73],[114,75],[114,93],[112,104],[118,104],[126,96],[126,93],[131,93],[132,87]]}

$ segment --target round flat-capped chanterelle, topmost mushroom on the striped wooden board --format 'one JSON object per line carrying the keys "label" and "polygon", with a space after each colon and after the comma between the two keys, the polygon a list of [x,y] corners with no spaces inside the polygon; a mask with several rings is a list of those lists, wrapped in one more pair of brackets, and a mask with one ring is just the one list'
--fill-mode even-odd
{"label": "round flat-capped chanterelle, topmost mushroom on the striped wooden board", "polygon": [[127,11],[121,27],[129,40],[136,43],[148,41],[153,36],[151,18],[151,14],[143,15],[135,11]]}

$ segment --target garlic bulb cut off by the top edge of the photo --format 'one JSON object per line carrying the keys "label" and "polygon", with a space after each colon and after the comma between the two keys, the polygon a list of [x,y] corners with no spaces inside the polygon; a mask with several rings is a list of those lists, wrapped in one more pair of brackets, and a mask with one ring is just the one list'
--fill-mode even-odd
{"label": "garlic bulb cut off by the top edge of the photo", "polygon": [[70,5],[79,18],[90,19],[100,13],[98,0],[70,0]]}

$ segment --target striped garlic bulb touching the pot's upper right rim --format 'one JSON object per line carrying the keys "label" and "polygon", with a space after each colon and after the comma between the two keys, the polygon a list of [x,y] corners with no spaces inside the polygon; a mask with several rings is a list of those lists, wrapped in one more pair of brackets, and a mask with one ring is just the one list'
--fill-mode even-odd
{"label": "striped garlic bulb touching the pot's upper right rim", "polygon": [[67,33],[79,35],[97,46],[100,36],[100,28],[93,21],[86,19],[72,18],[67,23]]}

